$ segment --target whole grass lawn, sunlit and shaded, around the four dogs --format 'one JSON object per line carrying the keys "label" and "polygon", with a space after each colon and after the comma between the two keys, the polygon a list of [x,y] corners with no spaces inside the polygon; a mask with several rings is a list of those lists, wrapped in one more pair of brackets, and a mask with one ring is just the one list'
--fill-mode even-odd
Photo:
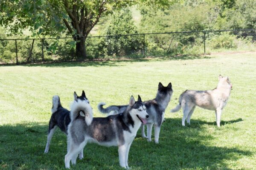
{"label": "whole grass lawn, sunlit and shaded, around the four dogs", "polygon": [[[191,125],[182,127],[182,112],[169,113],[186,89],[216,87],[218,75],[233,84],[221,127],[214,111],[196,108]],[[256,53],[203,57],[104,62],[64,62],[0,67],[0,169],[64,169],[67,142],[56,130],[44,154],[52,96],[69,108],[73,92],[85,90],[94,116],[99,102],[128,104],[131,95],[153,99],[158,82],[172,82],[174,93],[166,109],[159,144],[140,136],[131,145],[129,166],[148,169],[256,169]],[[136,97],[137,98],[137,97]],[[154,130],[153,130],[154,140]],[[117,147],[87,144],[84,159],[71,169],[122,169]]]}

